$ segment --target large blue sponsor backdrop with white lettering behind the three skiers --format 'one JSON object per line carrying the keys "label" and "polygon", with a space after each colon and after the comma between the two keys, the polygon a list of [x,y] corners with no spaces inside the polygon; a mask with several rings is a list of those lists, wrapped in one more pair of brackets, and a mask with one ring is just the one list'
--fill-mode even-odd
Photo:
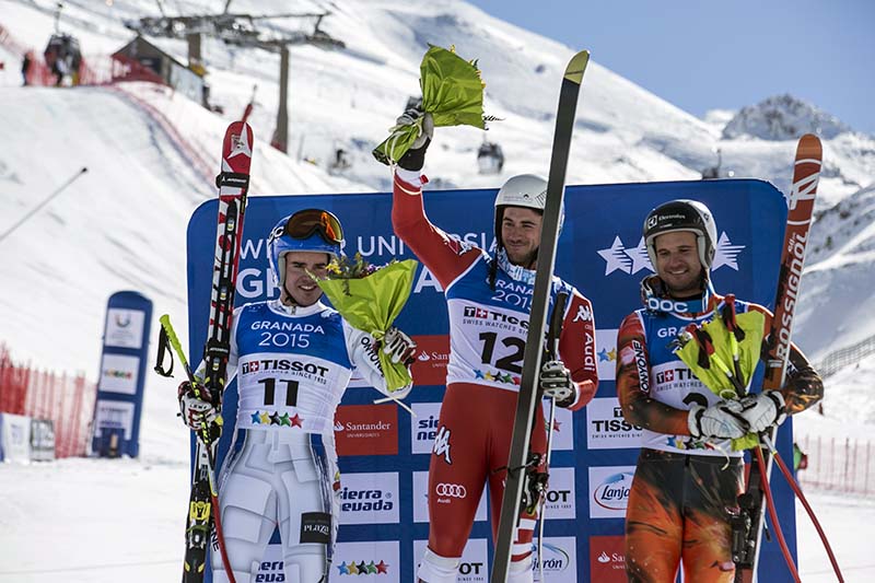
{"label": "large blue sponsor backdrop with white lettering behind the three skiers", "polygon": [[[444,231],[488,249],[492,243],[495,190],[427,191],[425,211]],[[551,582],[625,582],[623,516],[634,476],[640,428],[625,421],[614,383],[617,328],[641,306],[639,282],[652,272],[641,236],[648,212],[675,198],[707,203],[718,226],[712,268],[715,289],[772,307],[786,206],[783,195],[760,180],[710,180],[571,186],[559,238],[556,270],[593,302],[599,386],[581,411],[559,409],[553,423],[550,493],[542,557]],[[246,211],[236,304],[273,299],[266,238],[279,219],[306,208],[334,212],[346,232],[345,253],[375,265],[415,258],[392,229],[392,195],[253,197]],[[217,202],[197,209],[188,225],[190,353],[201,355],[209,317]],[[521,305],[527,301],[518,298]],[[410,300],[397,323],[421,353],[413,364],[416,388],[407,398],[416,417],[395,405],[373,405],[381,395],[353,381],[335,421],[341,469],[341,517],[330,581],[415,581],[429,536],[429,455],[438,432],[450,350],[443,290],[420,264]],[[670,338],[666,338],[669,341]],[[761,377],[761,372],[755,383]],[[233,433],[236,384],[226,390],[225,429],[219,460]],[[790,459],[785,423],[779,450]],[[464,447],[464,444],[462,445]],[[793,494],[779,478],[773,491],[784,533],[795,549]],[[447,492],[467,495],[467,492]],[[488,493],[483,494],[459,565],[458,581],[489,581],[492,556]],[[275,543],[278,537],[275,534]],[[282,557],[271,545],[259,581],[282,581]],[[775,543],[762,548],[760,581],[791,581]]]}

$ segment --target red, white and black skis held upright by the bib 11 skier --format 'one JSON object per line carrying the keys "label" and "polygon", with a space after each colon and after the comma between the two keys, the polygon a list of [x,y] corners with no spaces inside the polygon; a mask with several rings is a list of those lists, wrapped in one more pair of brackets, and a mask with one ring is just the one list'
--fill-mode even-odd
{"label": "red, white and black skis held upright by the bib 11 skier", "polygon": [[[205,378],[195,378],[185,358],[185,351],[171,326],[170,317],[166,315],[161,317],[162,333],[155,370],[164,376],[170,376],[173,371],[172,360],[170,371],[165,371],[162,365],[164,347],[168,343],[179,358],[196,396],[209,400],[217,411],[221,411],[228,359],[231,352],[234,291],[249,188],[252,148],[253,130],[249,125],[245,121],[232,123],[225,130],[221,172],[215,177],[215,186],[219,188],[219,220],[210,294],[210,319],[203,347]],[[183,583],[202,583],[208,569],[208,545],[213,540],[213,536],[215,536],[214,550],[221,553],[229,580],[234,583],[234,573],[225,551],[215,485],[215,450],[221,435],[221,415],[217,421],[197,431],[191,493],[186,517]]]}

